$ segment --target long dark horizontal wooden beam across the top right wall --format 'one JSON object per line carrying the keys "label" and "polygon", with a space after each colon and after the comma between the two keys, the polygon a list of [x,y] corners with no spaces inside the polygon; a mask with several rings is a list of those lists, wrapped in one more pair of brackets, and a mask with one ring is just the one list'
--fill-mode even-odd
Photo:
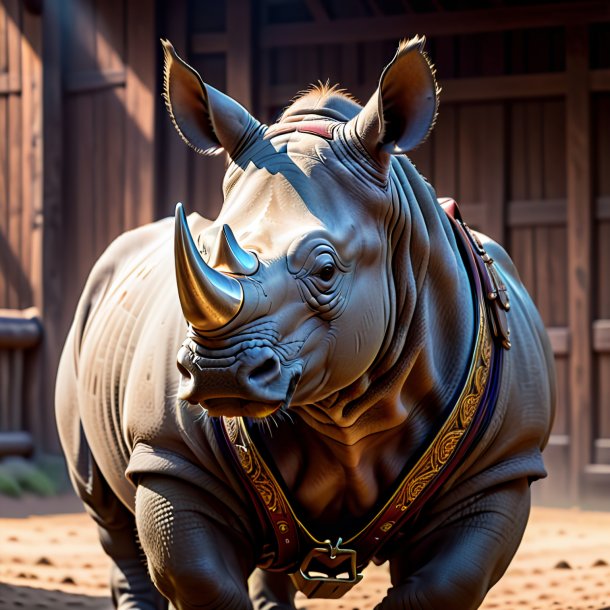
{"label": "long dark horizontal wooden beam across the top right wall", "polygon": [[352,18],[329,23],[266,25],[261,29],[262,48],[316,44],[345,44],[400,39],[415,34],[448,36],[476,32],[501,32],[610,21],[607,1],[499,7],[443,13],[409,13]]}

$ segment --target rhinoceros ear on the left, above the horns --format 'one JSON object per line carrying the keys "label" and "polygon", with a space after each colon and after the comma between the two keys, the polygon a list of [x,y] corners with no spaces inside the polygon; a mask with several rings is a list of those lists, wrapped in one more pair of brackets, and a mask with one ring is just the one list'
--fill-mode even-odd
{"label": "rhinoceros ear on the left, above the horns", "polygon": [[233,98],[206,85],[168,40],[161,43],[165,55],[163,97],[178,133],[198,153],[215,154],[224,149],[231,155],[258,121]]}

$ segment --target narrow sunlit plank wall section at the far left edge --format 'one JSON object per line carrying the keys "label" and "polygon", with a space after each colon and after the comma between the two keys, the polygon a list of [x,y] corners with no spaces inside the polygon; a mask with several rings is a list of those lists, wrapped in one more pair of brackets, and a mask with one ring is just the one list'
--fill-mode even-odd
{"label": "narrow sunlit plank wall section at the far left edge", "polygon": [[[41,24],[0,3],[0,431],[37,429],[40,375],[32,341],[10,340],[42,302]],[[33,307],[37,309],[33,309]],[[7,334],[7,330],[9,331]],[[34,343],[38,341],[36,337]],[[1,449],[1,448],[0,448]]]}

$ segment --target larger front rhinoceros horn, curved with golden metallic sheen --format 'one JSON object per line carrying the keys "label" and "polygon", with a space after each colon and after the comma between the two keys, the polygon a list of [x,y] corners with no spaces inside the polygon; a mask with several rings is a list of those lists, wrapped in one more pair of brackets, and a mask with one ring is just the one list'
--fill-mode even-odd
{"label": "larger front rhinoceros horn, curved with golden metallic sheen", "polygon": [[178,295],[186,320],[202,334],[228,324],[243,304],[241,284],[203,260],[181,203],[176,206],[174,253]]}

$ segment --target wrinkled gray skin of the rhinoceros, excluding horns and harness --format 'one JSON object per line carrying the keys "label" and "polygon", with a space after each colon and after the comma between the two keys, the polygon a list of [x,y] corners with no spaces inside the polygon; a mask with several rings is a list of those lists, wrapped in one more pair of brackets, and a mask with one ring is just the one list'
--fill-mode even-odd
{"label": "wrinkled gray skin of the rhinoceros, excluding horns and harness", "polygon": [[[166,44],[179,132],[231,160],[219,218],[192,214],[192,235],[210,252],[228,224],[259,267],[232,274],[245,299],[236,317],[200,333],[193,326],[208,314],[197,308],[206,307],[189,300],[189,286],[182,308],[178,298],[171,219],[117,239],[86,285],[61,361],[57,418],[122,610],[163,607],[151,580],[180,610],[293,608],[288,577],[255,570],[255,513],[212,416],[259,418],[299,515],[335,539],[346,516],[366,519],[388,497],[461,389],[475,333],[468,275],[434,191],[398,154],[426,136],[436,112],[421,46],[401,46],[363,109],[321,88],[280,119],[336,119],[329,140],[270,134]],[[548,340],[506,252],[483,240],[512,304],[498,404],[389,558],[383,610],[478,607],[519,545],[530,482],[545,475]],[[289,417],[276,409],[296,379]]]}

